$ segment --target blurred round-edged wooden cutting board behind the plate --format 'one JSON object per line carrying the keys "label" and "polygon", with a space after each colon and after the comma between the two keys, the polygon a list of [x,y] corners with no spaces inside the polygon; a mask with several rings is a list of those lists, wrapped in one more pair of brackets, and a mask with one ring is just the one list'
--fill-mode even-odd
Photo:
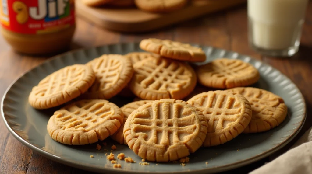
{"label": "blurred round-edged wooden cutting board behind the plate", "polygon": [[80,1],[76,1],[76,13],[82,18],[110,30],[144,32],[217,12],[245,2],[246,0],[193,0],[183,9],[158,14],[144,12],[136,7],[88,7]]}

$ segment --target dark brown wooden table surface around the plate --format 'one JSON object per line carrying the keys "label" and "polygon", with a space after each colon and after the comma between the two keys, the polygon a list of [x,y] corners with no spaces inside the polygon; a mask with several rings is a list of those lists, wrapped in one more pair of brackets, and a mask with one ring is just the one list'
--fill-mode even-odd
{"label": "dark brown wooden table surface around the plate", "polygon": [[[91,47],[119,42],[140,41],[144,38],[171,39],[186,43],[211,45],[241,54],[247,54],[271,64],[288,76],[299,87],[308,107],[312,109],[312,2],[307,9],[299,53],[290,59],[272,59],[261,56],[249,48],[247,43],[246,5],[227,11],[203,16],[200,19],[184,22],[160,31],[139,35],[120,34],[107,31],[77,19],[77,30],[72,49]],[[0,36],[0,96],[3,96],[9,84],[22,73],[37,66],[47,58],[30,57],[17,54]],[[312,117],[308,115],[300,134],[285,148],[270,158],[265,158],[245,167],[236,169],[240,173],[249,172],[265,162],[284,153],[305,130],[312,126]],[[0,173],[83,173],[79,169],[44,158],[26,148],[13,138],[0,119]],[[231,171],[233,172],[233,171]],[[228,173],[228,172],[227,172]]]}

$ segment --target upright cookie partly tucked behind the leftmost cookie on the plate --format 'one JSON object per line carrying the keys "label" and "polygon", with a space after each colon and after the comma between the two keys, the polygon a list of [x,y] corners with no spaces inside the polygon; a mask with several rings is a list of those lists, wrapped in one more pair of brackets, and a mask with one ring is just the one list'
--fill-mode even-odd
{"label": "upright cookie partly tucked behind the leftmost cookie on the plate", "polygon": [[130,81],[133,68],[129,59],[119,54],[104,54],[86,65],[95,72],[95,82],[83,95],[88,99],[110,99]]}

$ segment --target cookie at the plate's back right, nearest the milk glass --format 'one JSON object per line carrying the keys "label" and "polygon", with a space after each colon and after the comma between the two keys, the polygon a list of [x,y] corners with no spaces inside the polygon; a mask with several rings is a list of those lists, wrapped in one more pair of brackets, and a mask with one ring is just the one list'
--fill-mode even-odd
{"label": "cookie at the plate's back right, nearest the milk glass", "polygon": [[238,59],[216,59],[197,68],[198,82],[207,87],[233,88],[256,83],[258,70]]}

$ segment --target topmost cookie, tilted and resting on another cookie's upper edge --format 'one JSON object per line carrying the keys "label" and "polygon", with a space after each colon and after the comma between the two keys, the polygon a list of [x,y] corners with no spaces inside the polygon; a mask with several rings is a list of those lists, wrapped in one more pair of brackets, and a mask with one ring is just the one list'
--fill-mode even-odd
{"label": "topmost cookie, tilted and resting on another cookie's upper edge", "polygon": [[203,62],[206,60],[206,54],[201,48],[171,40],[144,39],[140,42],[140,48],[170,59],[190,62]]}

